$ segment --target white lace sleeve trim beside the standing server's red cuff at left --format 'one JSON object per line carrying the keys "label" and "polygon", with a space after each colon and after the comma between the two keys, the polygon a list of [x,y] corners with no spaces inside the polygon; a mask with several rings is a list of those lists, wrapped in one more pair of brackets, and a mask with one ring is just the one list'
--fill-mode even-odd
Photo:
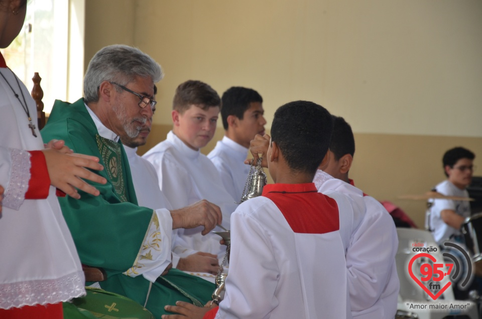
{"label": "white lace sleeve trim beside the standing server's red cuff at left", "polygon": [[18,210],[25,199],[25,193],[29,189],[30,180],[30,153],[24,150],[9,148],[12,159],[10,182],[6,189],[2,204]]}

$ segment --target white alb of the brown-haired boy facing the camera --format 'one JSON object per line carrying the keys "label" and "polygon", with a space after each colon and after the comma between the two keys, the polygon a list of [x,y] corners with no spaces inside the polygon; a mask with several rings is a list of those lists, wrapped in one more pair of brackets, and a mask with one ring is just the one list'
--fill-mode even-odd
{"label": "white alb of the brown-haired boy facing the camera", "polygon": [[[167,139],[143,156],[154,165],[159,186],[174,209],[206,199],[218,205],[222,225],[229,229],[231,213],[236,209],[234,199],[226,192],[214,164],[199,150],[189,148],[171,131]],[[186,257],[198,251],[224,256],[225,246],[214,234],[201,235],[202,227],[177,230],[174,252]]]}

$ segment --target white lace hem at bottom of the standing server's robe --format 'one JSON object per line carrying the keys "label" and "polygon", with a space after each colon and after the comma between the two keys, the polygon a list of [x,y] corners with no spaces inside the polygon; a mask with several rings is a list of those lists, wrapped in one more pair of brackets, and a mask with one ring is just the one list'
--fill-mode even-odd
{"label": "white lace hem at bottom of the standing server's robe", "polygon": [[84,285],[82,271],[57,279],[0,284],[0,308],[64,302],[85,295]]}

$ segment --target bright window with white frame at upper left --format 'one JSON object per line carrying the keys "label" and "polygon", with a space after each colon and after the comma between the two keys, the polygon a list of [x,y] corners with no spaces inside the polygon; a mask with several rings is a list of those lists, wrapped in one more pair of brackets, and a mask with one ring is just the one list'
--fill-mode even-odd
{"label": "bright window with white frame at upper left", "polygon": [[44,112],[82,95],[84,0],[32,0],[23,31],[2,54],[29,90],[39,72]]}

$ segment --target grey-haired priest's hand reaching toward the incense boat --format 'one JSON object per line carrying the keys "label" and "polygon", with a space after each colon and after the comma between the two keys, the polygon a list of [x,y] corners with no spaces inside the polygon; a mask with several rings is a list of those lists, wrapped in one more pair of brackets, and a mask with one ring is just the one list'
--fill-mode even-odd
{"label": "grey-haired priest's hand reaching toward the incense boat", "polygon": [[196,228],[203,226],[202,235],[208,234],[217,224],[221,224],[222,215],[219,206],[199,200],[184,208],[171,210],[172,229]]}

